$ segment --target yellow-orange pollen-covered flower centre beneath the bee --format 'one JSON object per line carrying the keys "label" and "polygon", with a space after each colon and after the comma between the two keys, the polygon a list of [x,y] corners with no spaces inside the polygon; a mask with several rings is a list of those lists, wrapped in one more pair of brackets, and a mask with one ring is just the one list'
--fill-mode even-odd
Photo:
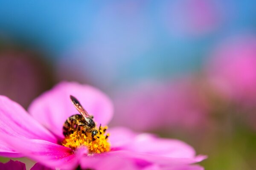
{"label": "yellow-orange pollen-covered flower centre beneath the bee", "polygon": [[91,133],[83,132],[81,130],[74,130],[69,136],[66,136],[62,142],[65,147],[70,147],[75,150],[79,147],[87,147],[89,153],[102,153],[110,150],[110,143],[108,142],[109,134],[105,134],[107,126],[96,128],[98,134],[92,138]]}

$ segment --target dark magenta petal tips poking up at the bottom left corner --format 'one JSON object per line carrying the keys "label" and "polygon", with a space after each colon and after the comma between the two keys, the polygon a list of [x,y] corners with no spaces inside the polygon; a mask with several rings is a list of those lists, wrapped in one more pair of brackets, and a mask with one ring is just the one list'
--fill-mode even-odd
{"label": "dark magenta petal tips poking up at the bottom left corner", "polygon": [[[0,162],[0,170],[26,170],[26,165],[20,161],[13,161],[12,159],[7,163]],[[52,170],[39,163],[36,163],[30,170]]]}

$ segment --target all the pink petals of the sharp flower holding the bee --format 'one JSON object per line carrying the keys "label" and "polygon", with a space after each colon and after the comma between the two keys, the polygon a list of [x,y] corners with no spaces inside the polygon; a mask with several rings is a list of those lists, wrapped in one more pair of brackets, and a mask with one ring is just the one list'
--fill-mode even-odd
{"label": "all the pink petals of the sharp flower holding the bee", "polygon": [[202,169],[189,165],[206,157],[195,156],[195,150],[188,144],[134,133],[123,127],[107,130],[110,133],[109,152],[92,153],[89,147],[71,149],[63,146],[63,124],[69,116],[78,113],[70,102],[70,94],[94,116],[98,126],[103,127],[111,120],[113,108],[108,97],[93,87],[75,82],[62,82],[39,96],[29,107],[30,115],[16,102],[0,96],[0,155],[26,156],[47,167],[61,169],[74,169],[78,165],[84,169],[106,170],[121,167],[135,170],[150,167]]}

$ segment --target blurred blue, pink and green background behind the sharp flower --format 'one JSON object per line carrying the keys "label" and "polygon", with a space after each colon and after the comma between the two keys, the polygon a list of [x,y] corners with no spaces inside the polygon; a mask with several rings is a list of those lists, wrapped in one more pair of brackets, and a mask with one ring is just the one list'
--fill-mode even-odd
{"label": "blurred blue, pink and green background behind the sharp flower", "polygon": [[206,170],[256,167],[255,0],[0,0],[0,94],[27,108],[64,80],[107,93],[110,126],[181,139]]}

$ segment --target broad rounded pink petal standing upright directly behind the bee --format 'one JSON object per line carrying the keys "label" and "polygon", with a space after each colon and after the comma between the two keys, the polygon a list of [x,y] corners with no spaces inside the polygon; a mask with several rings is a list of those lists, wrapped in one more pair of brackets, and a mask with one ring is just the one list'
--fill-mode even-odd
{"label": "broad rounded pink petal standing upright directly behind the bee", "polygon": [[80,101],[98,124],[107,125],[111,120],[113,107],[108,97],[96,88],[76,82],[61,82],[45,92],[32,102],[29,113],[57,136],[63,137],[65,120],[79,114],[70,101],[70,95]]}

